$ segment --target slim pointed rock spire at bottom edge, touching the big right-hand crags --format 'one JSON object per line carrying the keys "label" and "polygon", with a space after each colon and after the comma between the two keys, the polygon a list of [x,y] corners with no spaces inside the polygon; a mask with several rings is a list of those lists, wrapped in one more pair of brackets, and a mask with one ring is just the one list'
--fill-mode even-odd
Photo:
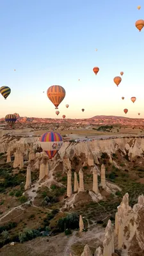
{"label": "slim pointed rock spire at bottom edge, touching the big right-hand crags", "polygon": [[111,254],[115,252],[113,227],[111,225],[111,220],[108,221],[105,232],[106,233],[103,241],[103,246],[104,246],[103,256],[111,256]]}

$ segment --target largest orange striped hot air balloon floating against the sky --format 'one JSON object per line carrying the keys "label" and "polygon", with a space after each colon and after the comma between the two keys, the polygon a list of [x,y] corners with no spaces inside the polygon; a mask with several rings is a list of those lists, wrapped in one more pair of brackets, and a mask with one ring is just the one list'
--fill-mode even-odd
{"label": "largest orange striped hot air balloon floating against the sky", "polygon": [[55,109],[58,109],[61,101],[65,98],[65,89],[60,85],[52,85],[47,89],[47,97],[54,104]]}

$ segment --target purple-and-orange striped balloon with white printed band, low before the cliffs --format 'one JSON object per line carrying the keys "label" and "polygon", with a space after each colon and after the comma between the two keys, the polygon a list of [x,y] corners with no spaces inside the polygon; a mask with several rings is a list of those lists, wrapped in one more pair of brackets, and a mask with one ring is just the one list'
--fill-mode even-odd
{"label": "purple-and-orange striped balloon with white printed band, low before the cliffs", "polygon": [[40,145],[49,159],[52,159],[63,145],[63,138],[58,132],[45,132],[40,137]]}

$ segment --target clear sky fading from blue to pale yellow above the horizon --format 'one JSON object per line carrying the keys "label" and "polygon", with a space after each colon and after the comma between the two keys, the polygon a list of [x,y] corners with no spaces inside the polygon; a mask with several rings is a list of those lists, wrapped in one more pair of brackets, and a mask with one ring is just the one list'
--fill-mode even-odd
{"label": "clear sky fading from blue to pale yellow above the horizon", "polygon": [[[0,86],[12,92],[6,100],[0,95],[0,118],[9,113],[144,118],[144,28],[136,29],[139,19],[144,19],[142,0],[1,1]],[[93,67],[99,67],[97,76]],[[113,78],[121,71],[117,87]],[[66,91],[59,116],[46,93],[54,84]]]}

